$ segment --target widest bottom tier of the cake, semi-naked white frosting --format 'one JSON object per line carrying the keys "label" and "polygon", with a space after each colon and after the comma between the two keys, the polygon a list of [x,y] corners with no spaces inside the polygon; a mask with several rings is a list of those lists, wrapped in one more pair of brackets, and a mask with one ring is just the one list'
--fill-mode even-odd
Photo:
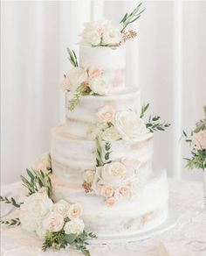
{"label": "widest bottom tier of the cake, semi-naked white frosting", "polygon": [[148,231],[162,224],[168,217],[167,174],[161,167],[153,167],[138,197],[118,202],[113,207],[107,207],[101,196],[85,195],[80,187],[68,187],[58,181],[54,183],[55,200],[80,203],[86,229],[96,233],[99,238]]}

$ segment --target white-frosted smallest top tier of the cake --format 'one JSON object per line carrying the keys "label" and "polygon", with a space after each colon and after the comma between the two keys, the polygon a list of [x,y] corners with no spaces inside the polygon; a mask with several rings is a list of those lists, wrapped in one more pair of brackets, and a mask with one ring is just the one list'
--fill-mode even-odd
{"label": "white-frosted smallest top tier of the cake", "polygon": [[113,84],[113,91],[125,87],[126,48],[79,46],[79,66],[88,68],[99,67],[103,77]]}

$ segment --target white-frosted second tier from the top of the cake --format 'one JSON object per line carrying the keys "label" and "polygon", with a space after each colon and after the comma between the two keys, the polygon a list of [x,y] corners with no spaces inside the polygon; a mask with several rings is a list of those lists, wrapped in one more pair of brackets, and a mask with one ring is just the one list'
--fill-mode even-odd
{"label": "white-frosted second tier from the top of the cake", "polygon": [[[124,92],[124,94],[123,94]],[[105,105],[116,111],[134,110],[140,112],[140,91],[127,89],[115,96],[83,96],[74,110],[69,110],[70,94],[65,95],[65,113],[67,132],[74,136],[86,137],[91,125],[97,123],[97,111]]]}

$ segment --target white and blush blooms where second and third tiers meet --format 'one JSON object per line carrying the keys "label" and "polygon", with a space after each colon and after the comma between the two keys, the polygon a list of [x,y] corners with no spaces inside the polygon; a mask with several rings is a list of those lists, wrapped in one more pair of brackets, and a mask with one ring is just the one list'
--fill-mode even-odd
{"label": "white and blush blooms where second and third tiers meet", "polygon": [[148,132],[141,117],[133,110],[115,112],[113,106],[106,105],[97,111],[97,120],[98,123],[87,132],[88,139],[134,141]]}

